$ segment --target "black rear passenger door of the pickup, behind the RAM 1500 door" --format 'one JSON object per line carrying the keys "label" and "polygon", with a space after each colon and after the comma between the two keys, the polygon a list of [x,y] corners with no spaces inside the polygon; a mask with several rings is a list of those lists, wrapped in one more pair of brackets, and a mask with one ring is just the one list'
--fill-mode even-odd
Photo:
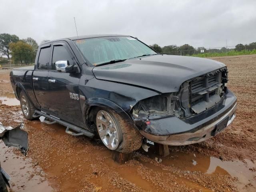
{"label": "black rear passenger door of the pickup, behind the RAM 1500 door", "polygon": [[50,62],[51,45],[48,44],[40,48],[36,68],[33,72],[32,82],[36,99],[40,107],[45,112],[48,111],[48,66]]}

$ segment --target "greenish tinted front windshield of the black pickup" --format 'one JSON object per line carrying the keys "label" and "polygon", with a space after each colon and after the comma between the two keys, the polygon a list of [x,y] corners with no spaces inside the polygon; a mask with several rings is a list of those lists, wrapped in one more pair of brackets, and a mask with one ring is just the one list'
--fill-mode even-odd
{"label": "greenish tinted front windshield of the black pickup", "polygon": [[126,60],[157,54],[154,50],[130,36],[88,38],[74,40],[74,42],[84,57],[94,66],[113,60]]}

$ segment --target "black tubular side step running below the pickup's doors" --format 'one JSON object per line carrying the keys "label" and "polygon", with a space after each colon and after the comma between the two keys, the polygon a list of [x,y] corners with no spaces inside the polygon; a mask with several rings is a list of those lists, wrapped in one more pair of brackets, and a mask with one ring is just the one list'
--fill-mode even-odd
{"label": "black tubular side step running below the pickup's doors", "polygon": [[[78,127],[78,126],[75,126],[75,125],[73,125],[73,124],[70,124],[70,123],[68,123],[68,122],[65,122],[65,121],[63,121],[63,120],[60,120],[60,119],[55,118],[55,117],[53,117],[53,116],[50,116],[50,115],[48,115],[48,114],[45,114],[45,113],[43,113],[43,112],[41,112],[41,111],[35,110],[34,115],[35,115],[35,116],[36,116],[36,115],[37,115],[37,116],[40,115],[40,116],[41,116],[40,118],[42,118],[43,122],[45,122],[45,123],[47,123],[47,124],[58,123],[58,124],[61,124],[61,125],[63,125],[63,126],[66,126],[66,127],[67,127],[67,128],[66,128],[66,133],[67,133],[67,134],[70,134],[70,135],[72,135],[72,136],[85,135],[85,136],[88,136],[88,137],[90,137],[90,138],[93,138],[93,137],[94,137],[94,134],[93,134],[92,132],[88,131],[88,130],[85,130],[85,129],[83,129],[83,128],[80,128],[80,127]],[[48,121],[48,120],[46,120],[46,118],[47,118],[47,119],[50,119],[50,120],[52,120],[52,121]],[[77,133],[72,132],[71,130],[76,131]]]}

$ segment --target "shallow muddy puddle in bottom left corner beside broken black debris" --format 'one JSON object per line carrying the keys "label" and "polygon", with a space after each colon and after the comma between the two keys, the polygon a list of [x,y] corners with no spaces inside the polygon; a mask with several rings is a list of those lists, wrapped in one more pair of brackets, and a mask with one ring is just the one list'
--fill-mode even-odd
{"label": "shallow muddy puddle in bottom left corner beside broken black debris", "polygon": [[8,148],[0,140],[0,162],[2,168],[10,175],[10,186],[12,192],[52,192],[53,188],[49,186],[45,179],[45,173],[42,169],[33,164],[30,158],[17,155],[20,153],[14,148]]}

